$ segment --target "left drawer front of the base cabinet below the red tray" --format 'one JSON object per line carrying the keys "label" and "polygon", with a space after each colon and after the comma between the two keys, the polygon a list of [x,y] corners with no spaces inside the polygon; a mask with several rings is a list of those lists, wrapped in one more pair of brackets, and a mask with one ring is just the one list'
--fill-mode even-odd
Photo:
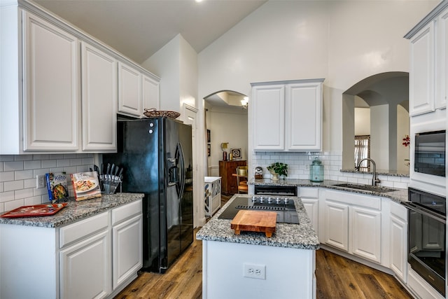
{"label": "left drawer front of the base cabinet below the red tray", "polygon": [[108,226],[109,212],[64,226],[59,230],[59,247],[62,248],[78,239],[91,235],[93,232],[108,228]]}

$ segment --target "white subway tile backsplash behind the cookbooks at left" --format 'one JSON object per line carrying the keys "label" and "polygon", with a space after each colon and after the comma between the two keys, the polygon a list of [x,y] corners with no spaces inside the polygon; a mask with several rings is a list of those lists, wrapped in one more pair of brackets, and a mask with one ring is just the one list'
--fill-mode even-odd
{"label": "white subway tile backsplash behind the cookbooks at left", "polygon": [[87,172],[93,163],[93,154],[0,155],[0,212],[48,202],[46,186],[36,188],[38,174]]}

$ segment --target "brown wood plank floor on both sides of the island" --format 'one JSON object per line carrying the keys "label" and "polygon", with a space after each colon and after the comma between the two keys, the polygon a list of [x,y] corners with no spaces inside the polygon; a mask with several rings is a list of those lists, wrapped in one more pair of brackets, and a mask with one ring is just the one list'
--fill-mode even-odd
{"label": "brown wood plank floor on both sides of the island", "polygon": [[[316,251],[316,281],[319,299],[412,298],[391,275],[323,249]],[[202,242],[195,239],[165,274],[140,272],[115,298],[202,298]]]}

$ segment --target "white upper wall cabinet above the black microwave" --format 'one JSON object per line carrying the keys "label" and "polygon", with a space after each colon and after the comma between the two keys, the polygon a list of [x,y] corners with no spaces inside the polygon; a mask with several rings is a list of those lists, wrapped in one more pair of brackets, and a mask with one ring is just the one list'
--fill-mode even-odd
{"label": "white upper wall cabinet above the black microwave", "polygon": [[448,96],[448,2],[405,36],[410,40],[409,116],[444,109]]}

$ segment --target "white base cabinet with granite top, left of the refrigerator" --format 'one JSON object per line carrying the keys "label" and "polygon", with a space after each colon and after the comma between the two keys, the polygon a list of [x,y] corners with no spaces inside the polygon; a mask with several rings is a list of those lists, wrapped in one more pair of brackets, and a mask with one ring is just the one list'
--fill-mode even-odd
{"label": "white base cabinet with granite top, left of the refrigerator", "polygon": [[143,197],[69,198],[52,216],[0,218],[0,298],[113,298],[142,265]]}

